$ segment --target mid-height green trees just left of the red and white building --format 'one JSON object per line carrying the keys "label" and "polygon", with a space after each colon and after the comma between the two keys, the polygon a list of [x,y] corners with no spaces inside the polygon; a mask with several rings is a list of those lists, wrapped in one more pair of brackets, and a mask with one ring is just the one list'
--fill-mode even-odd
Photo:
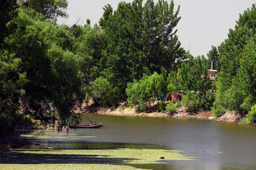
{"label": "mid-height green trees just left of the red and white building", "polygon": [[189,111],[196,113],[201,108],[210,110],[215,100],[215,84],[210,81],[207,70],[209,60],[202,57],[184,61],[178,72],[171,72],[168,77],[167,89],[177,93],[182,90],[183,104]]}

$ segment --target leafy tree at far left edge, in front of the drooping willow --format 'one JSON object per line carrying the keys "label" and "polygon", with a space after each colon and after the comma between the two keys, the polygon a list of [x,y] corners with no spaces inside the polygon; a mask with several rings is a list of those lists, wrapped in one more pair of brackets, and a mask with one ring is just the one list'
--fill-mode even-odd
{"label": "leafy tree at far left edge, in front of the drooping willow", "polygon": [[14,130],[19,97],[25,93],[27,74],[20,69],[21,59],[8,51],[0,53],[0,138]]}

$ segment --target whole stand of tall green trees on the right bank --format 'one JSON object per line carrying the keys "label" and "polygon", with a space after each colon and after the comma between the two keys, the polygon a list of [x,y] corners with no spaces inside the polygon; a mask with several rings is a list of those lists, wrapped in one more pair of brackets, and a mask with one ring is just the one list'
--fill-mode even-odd
{"label": "whole stand of tall green trees on the right bank", "polygon": [[220,105],[228,110],[249,111],[256,103],[255,18],[256,5],[253,4],[251,9],[240,14],[235,30],[229,30],[229,38],[218,48],[221,72],[218,75],[215,109]]}

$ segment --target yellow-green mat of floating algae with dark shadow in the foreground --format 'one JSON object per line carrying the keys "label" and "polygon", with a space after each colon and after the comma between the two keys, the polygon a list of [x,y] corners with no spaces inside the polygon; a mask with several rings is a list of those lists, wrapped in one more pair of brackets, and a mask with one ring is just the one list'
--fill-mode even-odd
{"label": "yellow-green mat of floating algae with dark shadow in the foreground", "polygon": [[131,170],[131,164],[194,160],[181,151],[164,149],[12,149],[2,153],[0,170]]}

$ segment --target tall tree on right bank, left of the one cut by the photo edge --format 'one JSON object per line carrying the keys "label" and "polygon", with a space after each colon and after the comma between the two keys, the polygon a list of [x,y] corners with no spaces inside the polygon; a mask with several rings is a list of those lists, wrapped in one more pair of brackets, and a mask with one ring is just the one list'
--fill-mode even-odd
{"label": "tall tree on right bank, left of the one cut by the photo edge", "polygon": [[[240,80],[239,74],[243,72],[241,67],[245,68],[245,61],[242,59],[244,56],[243,51],[255,34],[255,16],[256,6],[253,4],[251,9],[248,8],[243,14],[240,14],[238,21],[236,21],[235,30],[229,29],[228,39],[218,48],[219,56],[221,57],[221,69],[217,81],[218,93],[214,102],[215,110],[221,110],[220,107],[223,107],[228,110],[241,111],[242,108],[249,109],[252,104],[253,97],[244,88],[247,85],[245,83],[241,84],[241,81],[244,80]],[[242,76],[242,78],[245,77]],[[214,112],[214,114],[220,115],[216,111]],[[220,112],[223,113],[223,111]]]}

